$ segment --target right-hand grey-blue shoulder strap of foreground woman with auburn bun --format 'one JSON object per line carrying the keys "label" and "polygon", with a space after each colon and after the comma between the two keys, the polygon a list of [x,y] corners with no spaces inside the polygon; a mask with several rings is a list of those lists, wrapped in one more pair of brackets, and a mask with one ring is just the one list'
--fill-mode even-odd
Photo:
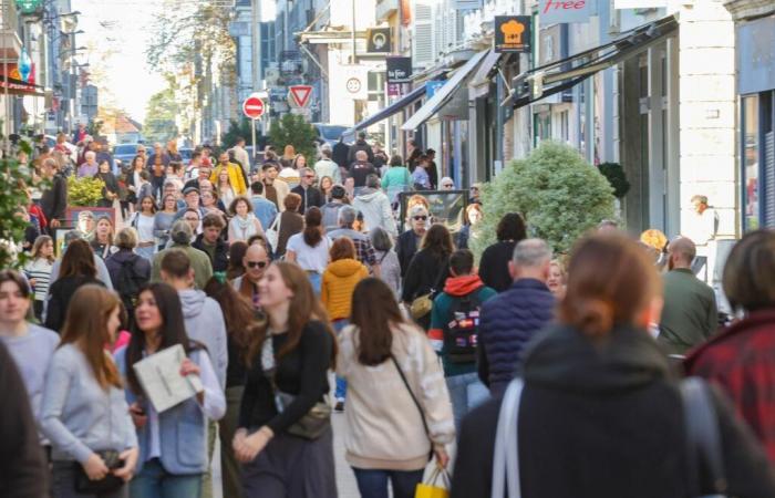
{"label": "right-hand grey-blue shoulder strap of foreground woman with auburn bun", "polygon": [[[695,495],[702,491],[701,476],[709,475],[715,492],[726,490],[724,464],[721,449],[721,433],[716,409],[707,384],[699,377],[688,377],[680,385],[683,402],[686,445],[689,447],[691,486]],[[702,473],[701,470],[704,470]]]}

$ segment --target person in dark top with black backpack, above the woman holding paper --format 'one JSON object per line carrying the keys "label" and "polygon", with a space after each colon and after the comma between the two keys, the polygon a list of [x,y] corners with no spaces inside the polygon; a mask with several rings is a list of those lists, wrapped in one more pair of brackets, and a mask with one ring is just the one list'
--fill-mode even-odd
{"label": "person in dark top with black backpack, above the woman holding paper", "polygon": [[151,280],[151,261],[134,252],[137,247],[137,231],[134,228],[123,228],[116,234],[115,246],[118,250],[105,260],[105,267],[111,274],[113,289],[121,297],[128,317],[128,326],[134,324],[134,309],[143,289]]}

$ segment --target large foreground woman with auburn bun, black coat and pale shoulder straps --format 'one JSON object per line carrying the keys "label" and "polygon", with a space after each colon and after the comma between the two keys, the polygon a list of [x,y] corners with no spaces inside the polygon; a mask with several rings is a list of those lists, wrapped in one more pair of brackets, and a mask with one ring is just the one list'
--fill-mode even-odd
{"label": "large foreground woman with auburn bun, black coat and pale shoulder straps", "polygon": [[661,307],[636,241],[578,242],[557,323],[505,396],[463,421],[451,498],[503,497],[509,473],[509,494],[530,498],[775,496],[775,473],[721,391],[674,380],[648,331]]}

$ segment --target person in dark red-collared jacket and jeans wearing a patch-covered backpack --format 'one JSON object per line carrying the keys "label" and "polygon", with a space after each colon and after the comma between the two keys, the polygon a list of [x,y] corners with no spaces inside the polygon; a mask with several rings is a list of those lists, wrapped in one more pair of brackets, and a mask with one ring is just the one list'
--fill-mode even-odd
{"label": "person in dark red-collared jacket and jeans wearing a patch-covered backpack", "polygon": [[487,398],[476,373],[476,344],[482,304],[497,294],[474,272],[474,253],[458,249],[450,257],[444,292],[433,300],[428,339],[442,357],[455,426]]}

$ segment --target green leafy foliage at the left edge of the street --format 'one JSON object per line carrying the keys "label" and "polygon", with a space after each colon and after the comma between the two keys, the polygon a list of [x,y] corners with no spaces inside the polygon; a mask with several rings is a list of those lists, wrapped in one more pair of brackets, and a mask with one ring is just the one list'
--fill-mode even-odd
{"label": "green leafy foliage at the left edge of the street", "polygon": [[[19,148],[28,154],[31,147],[28,142],[20,141]],[[21,166],[14,159],[0,159],[0,268],[20,268],[24,259],[19,257],[17,243],[24,239],[24,229],[29,225],[20,215],[21,206],[30,204],[27,191],[21,184],[32,185],[32,172]],[[45,188],[44,183],[38,184]]]}

